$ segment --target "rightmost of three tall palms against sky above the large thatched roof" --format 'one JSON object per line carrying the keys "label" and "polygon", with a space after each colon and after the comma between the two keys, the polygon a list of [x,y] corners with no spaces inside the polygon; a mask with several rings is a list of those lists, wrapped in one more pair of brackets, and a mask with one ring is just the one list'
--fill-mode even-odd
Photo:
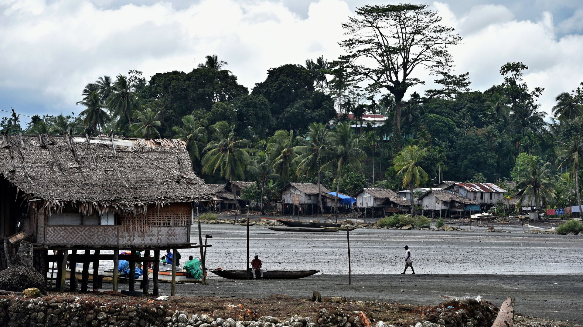
{"label": "rightmost of three tall palms against sky above the large thatched roof", "polygon": [[110,109],[111,116],[123,117],[132,123],[132,114],[139,108],[139,96],[134,85],[127,76],[118,74],[112,87],[112,93],[106,100],[107,108]]}

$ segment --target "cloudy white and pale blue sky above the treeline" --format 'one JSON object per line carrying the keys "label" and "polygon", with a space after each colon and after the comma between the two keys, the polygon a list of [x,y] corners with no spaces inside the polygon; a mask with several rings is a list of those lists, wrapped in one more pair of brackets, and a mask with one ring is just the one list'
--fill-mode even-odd
{"label": "cloudy white and pale blue sky above the treeline", "polygon": [[[83,86],[99,76],[188,72],[208,54],[251,89],[270,67],[337,58],[340,23],[357,6],[388,2],[404,0],[0,0],[0,109],[78,113]],[[521,61],[528,85],[545,87],[549,112],[583,81],[583,1],[428,4],[463,37],[451,52],[473,90],[500,83],[500,66]]]}

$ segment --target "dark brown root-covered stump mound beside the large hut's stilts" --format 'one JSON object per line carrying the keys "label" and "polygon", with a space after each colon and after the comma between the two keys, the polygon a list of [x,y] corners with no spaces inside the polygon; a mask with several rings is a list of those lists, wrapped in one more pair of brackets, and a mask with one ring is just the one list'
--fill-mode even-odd
{"label": "dark brown root-covered stump mound beside the large hut's stilts", "polygon": [[36,287],[43,295],[47,294],[44,277],[33,268],[33,246],[22,241],[10,266],[0,271],[0,289],[22,292]]}

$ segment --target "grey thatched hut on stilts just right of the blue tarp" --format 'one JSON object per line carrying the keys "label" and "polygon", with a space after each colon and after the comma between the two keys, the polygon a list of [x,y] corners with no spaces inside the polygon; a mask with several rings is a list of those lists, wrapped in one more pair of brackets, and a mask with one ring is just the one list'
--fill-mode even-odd
{"label": "grey thatched hut on stilts just right of the blue tarp", "polygon": [[386,215],[391,212],[409,211],[411,207],[410,201],[391,189],[365,188],[354,193],[352,197],[356,198],[356,206],[359,211],[364,211],[365,218],[368,211],[374,217],[375,208],[378,208],[377,213]]}

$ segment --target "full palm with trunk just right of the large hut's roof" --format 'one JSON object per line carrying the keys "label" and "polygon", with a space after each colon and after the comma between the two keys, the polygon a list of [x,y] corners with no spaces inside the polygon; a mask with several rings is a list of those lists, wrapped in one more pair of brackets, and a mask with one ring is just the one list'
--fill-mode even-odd
{"label": "full palm with trunk just right of the large hut's roof", "polygon": [[[233,183],[233,179],[244,179],[245,168],[251,161],[248,154],[248,140],[237,140],[235,137],[235,125],[229,126],[225,121],[221,121],[211,126],[218,134],[217,140],[210,141],[206,147],[206,154],[202,157],[202,172],[212,174],[219,170],[220,176]],[[231,188],[233,198],[234,187]],[[237,209],[241,209],[237,201]],[[235,218],[237,219],[237,218]]]}

